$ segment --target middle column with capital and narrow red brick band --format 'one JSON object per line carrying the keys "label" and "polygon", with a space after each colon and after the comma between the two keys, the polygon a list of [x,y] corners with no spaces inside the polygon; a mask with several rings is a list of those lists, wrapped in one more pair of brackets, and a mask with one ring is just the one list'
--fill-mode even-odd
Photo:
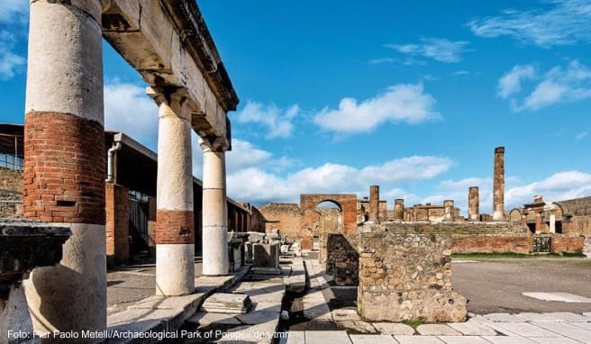
{"label": "middle column with capital and narrow red brick band", "polygon": [[156,294],[195,291],[195,220],[191,159],[192,103],[185,88],[149,88],[159,104],[156,190]]}

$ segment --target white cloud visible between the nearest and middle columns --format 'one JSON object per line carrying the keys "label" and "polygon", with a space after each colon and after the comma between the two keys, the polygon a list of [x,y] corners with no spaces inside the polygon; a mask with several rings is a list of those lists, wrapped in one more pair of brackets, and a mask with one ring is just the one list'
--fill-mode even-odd
{"label": "white cloud visible between the nearest and middle columns", "polygon": [[158,148],[158,106],[145,86],[105,83],[105,129],[123,131],[150,149]]}

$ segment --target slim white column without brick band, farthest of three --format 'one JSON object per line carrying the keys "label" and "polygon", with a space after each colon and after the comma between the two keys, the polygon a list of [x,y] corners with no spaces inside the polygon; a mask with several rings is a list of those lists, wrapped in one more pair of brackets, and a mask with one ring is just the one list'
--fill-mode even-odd
{"label": "slim white column without brick band, farthest of three", "polygon": [[200,139],[204,155],[203,274],[228,274],[228,204],[226,202],[225,151],[228,142],[219,137]]}

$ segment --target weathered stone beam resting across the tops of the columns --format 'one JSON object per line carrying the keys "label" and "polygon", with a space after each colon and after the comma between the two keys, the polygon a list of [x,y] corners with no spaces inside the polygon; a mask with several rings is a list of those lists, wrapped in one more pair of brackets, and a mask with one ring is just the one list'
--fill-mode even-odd
{"label": "weathered stone beam resting across the tops of the columns", "polygon": [[200,109],[191,118],[199,136],[229,135],[226,113],[238,96],[195,1],[109,0],[106,7],[103,37],[146,83],[186,87]]}

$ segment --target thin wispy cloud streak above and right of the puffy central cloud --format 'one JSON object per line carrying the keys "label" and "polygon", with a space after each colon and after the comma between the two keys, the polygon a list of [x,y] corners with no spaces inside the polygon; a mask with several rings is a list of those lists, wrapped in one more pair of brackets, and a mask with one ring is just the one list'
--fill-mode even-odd
{"label": "thin wispy cloud streak above and right of the puffy central cloud", "polygon": [[420,38],[419,41],[421,42],[417,44],[386,44],[385,46],[410,56],[422,56],[445,63],[461,61],[461,54],[468,51],[465,48],[468,41],[426,37]]}

